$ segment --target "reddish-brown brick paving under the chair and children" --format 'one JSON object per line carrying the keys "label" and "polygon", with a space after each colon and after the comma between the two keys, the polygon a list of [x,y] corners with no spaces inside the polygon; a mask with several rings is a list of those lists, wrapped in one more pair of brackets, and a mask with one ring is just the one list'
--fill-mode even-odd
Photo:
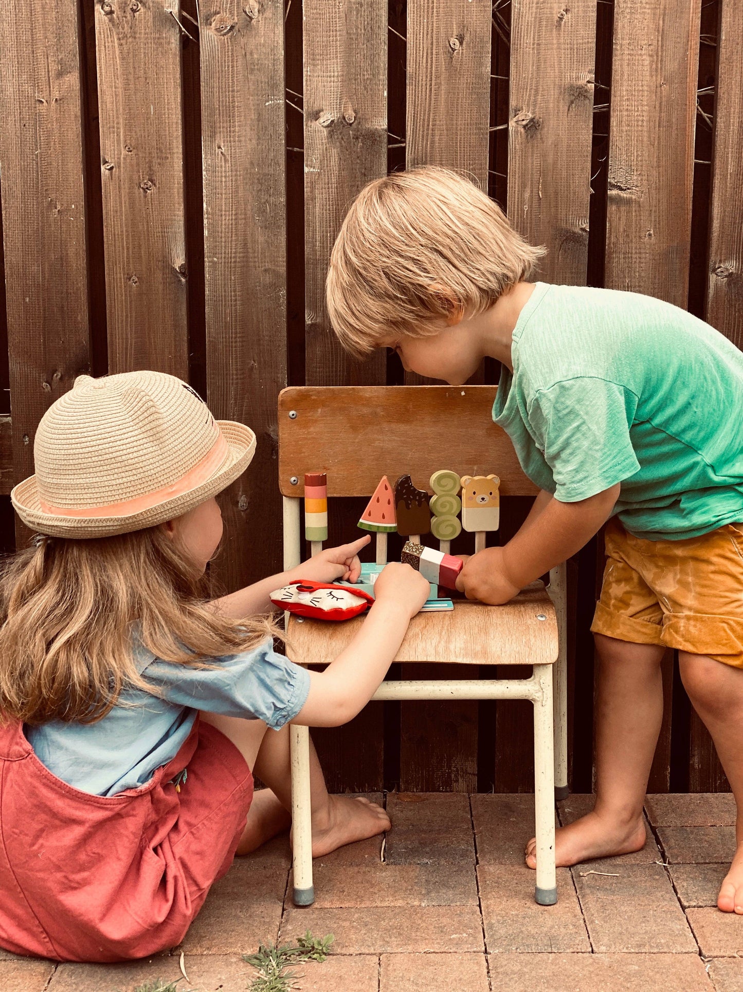
{"label": "reddish-brown brick paving under the chair and children", "polygon": [[[380,797],[374,797],[379,800]],[[730,796],[649,796],[647,843],[558,872],[538,907],[523,864],[531,796],[389,794],[393,828],[315,862],[317,901],[291,905],[286,837],[238,859],[180,947],[129,964],[54,964],[0,951],[0,989],[246,992],[242,954],[304,930],[332,932],[322,964],[296,965],[302,992],[743,992],[743,918],[715,900],[734,843]],[[559,822],[591,797],[560,804]]]}

